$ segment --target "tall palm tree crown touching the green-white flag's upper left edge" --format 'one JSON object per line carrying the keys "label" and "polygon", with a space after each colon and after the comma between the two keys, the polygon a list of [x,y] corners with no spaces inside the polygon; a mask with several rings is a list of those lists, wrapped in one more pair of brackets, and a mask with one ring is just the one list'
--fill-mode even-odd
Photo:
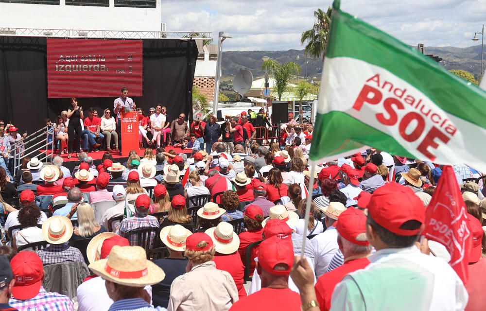
{"label": "tall palm tree crown touching the green-white flag's upper left edge", "polygon": [[332,8],[328,7],[327,12],[321,9],[314,11],[316,21],[312,29],[306,30],[300,37],[300,44],[304,45],[304,51],[311,57],[320,58],[324,61],[328,43],[329,30],[331,27]]}

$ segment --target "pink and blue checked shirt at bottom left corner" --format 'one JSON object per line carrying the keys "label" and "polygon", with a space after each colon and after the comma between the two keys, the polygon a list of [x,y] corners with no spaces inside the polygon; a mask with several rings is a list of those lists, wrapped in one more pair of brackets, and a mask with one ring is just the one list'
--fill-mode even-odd
{"label": "pink and blue checked shirt at bottom left corner", "polygon": [[74,305],[68,296],[58,293],[46,292],[44,287],[40,287],[39,294],[27,300],[17,300],[10,298],[8,304],[17,308],[19,311],[73,311]]}

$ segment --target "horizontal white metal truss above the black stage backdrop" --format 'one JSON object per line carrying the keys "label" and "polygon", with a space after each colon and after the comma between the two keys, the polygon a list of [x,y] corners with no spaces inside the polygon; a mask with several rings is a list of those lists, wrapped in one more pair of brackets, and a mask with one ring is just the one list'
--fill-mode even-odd
{"label": "horizontal white metal truss above the black stage backdrop", "polygon": [[0,36],[97,39],[211,39],[211,32],[36,29],[0,27]]}

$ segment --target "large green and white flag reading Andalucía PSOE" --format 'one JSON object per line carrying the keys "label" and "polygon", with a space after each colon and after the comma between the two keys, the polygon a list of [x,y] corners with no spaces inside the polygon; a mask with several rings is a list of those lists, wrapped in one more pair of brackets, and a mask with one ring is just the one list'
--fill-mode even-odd
{"label": "large green and white flag reading Andaluc\u00eda PSOE", "polygon": [[311,160],[373,146],[485,172],[485,107],[484,90],[334,1]]}

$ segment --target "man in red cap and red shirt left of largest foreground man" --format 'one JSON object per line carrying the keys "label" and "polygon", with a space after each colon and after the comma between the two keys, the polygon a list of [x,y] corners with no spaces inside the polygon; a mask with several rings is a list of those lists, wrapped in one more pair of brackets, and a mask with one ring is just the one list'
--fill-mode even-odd
{"label": "man in red cap and red shirt left of largest foreground man", "polygon": [[315,284],[315,294],[321,311],[330,310],[334,287],[347,274],[363,269],[369,264],[367,257],[371,246],[366,239],[366,216],[363,210],[349,207],[335,223],[339,233],[337,243],[344,256],[344,264],[323,274]]}

